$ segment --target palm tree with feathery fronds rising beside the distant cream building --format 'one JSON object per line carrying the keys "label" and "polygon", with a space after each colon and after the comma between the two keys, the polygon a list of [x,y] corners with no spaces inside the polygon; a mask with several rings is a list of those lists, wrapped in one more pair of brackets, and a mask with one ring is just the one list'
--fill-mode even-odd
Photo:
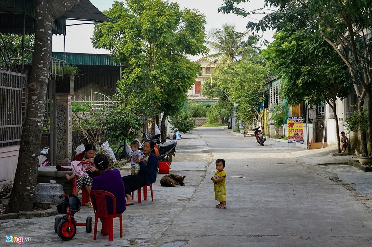
{"label": "palm tree with feathery fronds rising beside the distant cream building", "polygon": [[217,53],[210,54],[207,57],[214,60],[218,66],[224,67],[227,63],[238,61],[248,50],[257,50],[254,46],[257,43],[256,36],[248,36],[246,32],[237,32],[235,24],[222,24],[222,29],[211,29],[208,33],[206,45]]}

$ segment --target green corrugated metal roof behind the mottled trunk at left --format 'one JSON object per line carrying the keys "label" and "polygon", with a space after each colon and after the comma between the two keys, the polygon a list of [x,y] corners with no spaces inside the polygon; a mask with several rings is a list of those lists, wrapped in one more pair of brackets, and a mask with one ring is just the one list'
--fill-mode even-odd
{"label": "green corrugated metal roof behind the mottled trunk at left", "polygon": [[[66,57],[65,57],[66,55]],[[88,53],[64,53],[52,52],[52,57],[65,60],[71,65],[111,65],[119,66],[112,61],[110,55],[107,54],[88,54]]]}

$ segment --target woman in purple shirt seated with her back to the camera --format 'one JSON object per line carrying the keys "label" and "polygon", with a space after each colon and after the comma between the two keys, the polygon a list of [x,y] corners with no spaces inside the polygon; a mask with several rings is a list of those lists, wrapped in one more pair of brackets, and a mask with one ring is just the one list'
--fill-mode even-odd
{"label": "woman in purple shirt seated with her back to the camera", "polygon": [[[106,197],[107,211],[110,214],[121,214],[125,211],[125,188],[118,169],[109,169],[109,159],[104,154],[94,157],[94,166],[98,169],[97,177],[93,178],[91,190],[108,191],[115,196],[116,212],[113,212],[112,200]],[[94,200],[94,195],[92,200]]]}

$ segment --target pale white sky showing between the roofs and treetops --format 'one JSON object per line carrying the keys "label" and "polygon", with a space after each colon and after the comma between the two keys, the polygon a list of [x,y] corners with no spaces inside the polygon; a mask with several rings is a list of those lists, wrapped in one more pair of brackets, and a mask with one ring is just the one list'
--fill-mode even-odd
{"label": "pale white sky showing between the roofs and treetops", "polygon": [[[240,6],[246,10],[254,10],[264,7],[264,0],[251,0],[249,3],[243,3]],[[112,7],[114,0],[90,0],[90,2],[97,7],[100,11],[108,10]],[[223,3],[223,0],[170,0],[170,2],[177,2],[180,5],[180,9],[198,9],[201,13],[206,16],[205,30],[208,32],[211,29],[221,28],[223,23],[235,24],[237,31],[246,31],[246,25],[249,21],[257,21],[261,19],[264,14],[254,14],[248,17],[239,17],[235,14],[222,14],[218,13],[217,9]],[[256,11],[259,12],[259,11]],[[254,18],[254,19],[253,19]],[[68,24],[78,23],[76,21],[68,21]],[[74,53],[94,53],[94,54],[109,54],[108,50],[95,49],[90,41],[93,35],[93,24],[84,24],[77,26],[67,26],[66,36],[53,35],[52,37],[52,50],[55,52],[63,52],[64,46],[66,52]],[[271,42],[273,32],[265,32],[263,34],[264,39]],[[65,45],[64,45],[65,39]]]}

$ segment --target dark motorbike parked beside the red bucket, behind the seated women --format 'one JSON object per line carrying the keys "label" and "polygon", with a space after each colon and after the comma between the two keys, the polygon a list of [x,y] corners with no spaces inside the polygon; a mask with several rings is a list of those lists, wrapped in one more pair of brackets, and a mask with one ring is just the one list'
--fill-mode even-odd
{"label": "dark motorbike parked beside the red bucket, behind the seated women", "polygon": [[141,133],[142,133],[142,135],[144,136],[145,139],[144,139],[144,141],[142,142],[142,144],[139,148],[140,150],[142,150],[142,146],[143,146],[145,141],[152,140],[152,141],[155,142],[155,146],[157,146],[157,148],[158,148],[158,151],[159,151],[158,159],[159,159],[159,161],[169,161],[170,163],[172,163],[173,156],[176,157],[175,152],[176,152],[177,141],[171,140],[169,142],[161,142],[154,135],[147,134],[147,133],[144,133],[144,132],[141,132]]}

